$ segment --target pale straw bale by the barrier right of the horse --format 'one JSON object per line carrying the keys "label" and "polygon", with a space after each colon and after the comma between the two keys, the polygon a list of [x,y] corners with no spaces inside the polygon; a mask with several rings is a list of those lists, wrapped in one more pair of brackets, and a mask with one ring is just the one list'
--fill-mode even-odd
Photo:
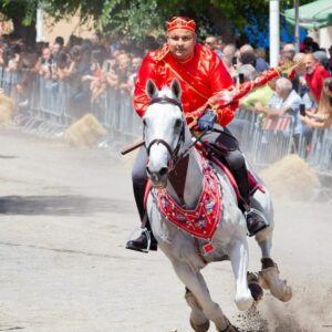
{"label": "pale straw bale by the barrier right of the horse", "polygon": [[260,173],[274,197],[312,199],[320,187],[315,172],[298,155],[288,155]]}

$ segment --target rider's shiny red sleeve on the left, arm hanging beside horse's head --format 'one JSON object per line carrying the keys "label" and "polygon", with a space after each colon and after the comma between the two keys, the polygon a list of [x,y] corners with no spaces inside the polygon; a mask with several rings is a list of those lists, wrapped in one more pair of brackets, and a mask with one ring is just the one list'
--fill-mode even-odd
{"label": "rider's shiny red sleeve on the left, arm hanging beside horse's head", "polygon": [[153,61],[149,55],[146,55],[137,73],[133,102],[135,111],[141,117],[149,104],[149,96],[145,92],[147,80],[152,79],[156,82],[155,66],[155,61]]}

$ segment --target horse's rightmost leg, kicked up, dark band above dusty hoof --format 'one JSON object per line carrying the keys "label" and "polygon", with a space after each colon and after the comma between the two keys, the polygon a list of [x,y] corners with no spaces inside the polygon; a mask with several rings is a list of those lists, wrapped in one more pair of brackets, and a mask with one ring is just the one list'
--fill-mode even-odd
{"label": "horse's rightmost leg, kicked up, dark band above dusty hoof", "polygon": [[262,253],[262,268],[259,272],[260,284],[269,289],[271,294],[280,301],[287,302],[292,298],[292,288],[280,278],[277,263],[270,257],[272,247],[272,230],[266,229],[256,236]]}

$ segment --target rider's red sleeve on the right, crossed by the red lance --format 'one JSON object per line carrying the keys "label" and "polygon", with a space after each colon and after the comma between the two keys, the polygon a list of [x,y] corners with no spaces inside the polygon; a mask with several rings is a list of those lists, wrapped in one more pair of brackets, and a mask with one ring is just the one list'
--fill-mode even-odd
{"label": "rider's red sleeve on the right, crossed by the red lance", "polygon": [[[215,65],[210,73],[210,84],[214,95],[221,91],[230,91],[234,89],[234,81],[225,68],[222,61],[216,55],[212,62]],[[228,106],[224,106],[228,101],[224,98],[214,100],[211,107],[218,115],[218,124],[221,126],[228,125],[235,116],[235,112],[238,108],[238,102],[231,103]]]}

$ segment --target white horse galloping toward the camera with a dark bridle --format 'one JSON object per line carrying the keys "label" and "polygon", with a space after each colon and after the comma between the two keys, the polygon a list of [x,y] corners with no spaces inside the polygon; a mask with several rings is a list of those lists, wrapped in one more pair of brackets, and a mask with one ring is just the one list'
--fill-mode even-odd
{"label": "white horse galloping toward the camera with a dark bridle", "polygon": [[[191,308],[193,329],[208,331],[209,321],[212,321],[218,331],[238,331],[224,315],[219,305],[211,300],[200,273],[200,269],[207,263],[229,259],[236,279],[235,302],[239,310],[248,310],[252,305],[255,295],[252,297],[250,289],[255,292],[257,288],[248,287],[247,226],[238,208],[234,187],[228,177],[219,170],[221,212],[212,239],[193,237],[169,222],[165,211],[160,211],[157,193],[163,189],[188,211],[195,210],[203,191],[206,190],[200,160],[203,158],[193,147],[193,137],[181,111],[179,83],[174,80],[170,87],[165,86],[158,91],[149,80],[146,91],[151,96],[151,105],[144,115],[143,125],[148,153],[146,170],[153,185],[146,205],[153,234],[162,251],[172,261],[178,278],[186,286],[185,298]],[[181,163],[183,160],[185,162]],[[288,301],[291,298],[291,288],[279,278],[277,264],[270,258],[273,211],[267,189],[264,188],[264,193],[257,190],[251,204],[264,214],[270,225],[256,236],[262,253],[262,270],[258,276],[250,274],[250,280],[259,288],[258,292],[261,290],[259,286],[262,286],[269,288],[276,298]],[[204,248],[208,247],[205,246],[210,243],[214,250],[204,252]]]}

